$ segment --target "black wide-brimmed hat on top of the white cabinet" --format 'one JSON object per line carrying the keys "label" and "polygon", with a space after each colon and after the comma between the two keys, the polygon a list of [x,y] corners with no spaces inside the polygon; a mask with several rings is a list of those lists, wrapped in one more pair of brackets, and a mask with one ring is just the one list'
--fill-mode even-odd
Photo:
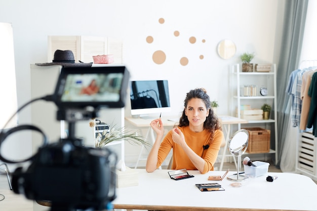
{"label": "black wide-brimmed hat on top of the white cabinet", "polygon": [[62,65],[64,67],[91,67],[92,63],[75,63],[74,54],[70,50],[56,50],[50,63],[35,63],[38,66]]}

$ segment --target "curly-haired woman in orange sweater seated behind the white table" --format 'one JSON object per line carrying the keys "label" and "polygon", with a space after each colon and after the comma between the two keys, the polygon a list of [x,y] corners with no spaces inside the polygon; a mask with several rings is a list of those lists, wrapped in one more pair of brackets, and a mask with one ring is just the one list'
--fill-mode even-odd
{"label": "curly-haired woman in orange sweater seated behind the white table", "polygon": [[202,174],[214,170],[224,137],[206,90],[194,89],[187,93],[179,124],[168,132],[162,143],[164,125],[161,118],[154,119],[150,125],[156,139],[147,157],[147,172],[156,170],[172,148],[172,169],[199,170]]}

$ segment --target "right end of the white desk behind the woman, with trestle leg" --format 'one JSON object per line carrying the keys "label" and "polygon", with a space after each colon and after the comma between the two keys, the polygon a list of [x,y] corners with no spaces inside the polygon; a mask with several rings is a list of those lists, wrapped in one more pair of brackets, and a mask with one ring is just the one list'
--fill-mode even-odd
{"label": "right end of the white desk behind the woman, with trestle leg", "polygon": [[[248,123],[248,121],[245,119],[241,119],[241,118],[237,118],[237,117],[233,117],[233,116],[225,116],[225,115],[219,115],[219,119],[222,122],[222,129],[224,130],[224,133],[225,133],[225,145],[223,148],[220,167],[219,167],[219,171],[222,171],[224,158],[226,156],[231,156],[230,154],[226,155],[226,152],[228,152],[227,148],[228,148],[228,143],[230,140],[231,124]],[[233,158],[235,161],[234,156],[233,156]],[[236,163],[235,163],[235,167],[237,167]]]}

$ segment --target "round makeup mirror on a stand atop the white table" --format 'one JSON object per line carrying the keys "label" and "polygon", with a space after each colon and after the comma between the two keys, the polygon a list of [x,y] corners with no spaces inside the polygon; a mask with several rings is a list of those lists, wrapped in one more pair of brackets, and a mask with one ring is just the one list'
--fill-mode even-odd
{"label": "round makeup mirror on a stand atop the white table", "polygon": [[239,173],[239,168],[241,163],[241,156],[246,152],[248,148],[248,141],[249,133],[247,130],[244,129],[235,132],[232,138],[229,140],[228,150],[232,155],[237,156],[237,169],[236,174],[227,177],[228,180],[242,181],[247,179],[244,175],[241,175]]}

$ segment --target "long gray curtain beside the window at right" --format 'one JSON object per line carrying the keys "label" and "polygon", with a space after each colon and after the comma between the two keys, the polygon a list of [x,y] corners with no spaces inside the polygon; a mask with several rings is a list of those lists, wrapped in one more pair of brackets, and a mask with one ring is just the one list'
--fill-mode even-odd
{"label": "long gray curtain beside the window at right", "polygon": [[[298,68],[304,27],[307,13],[308,0],[288,0],[285,1],[285,15],[283,28],[283,41],[281,45],[281,57],[278,62],[277,97],[278,97],[278,162],[280,167],[282,149],[285,144],[288,131],[290,109],[288,106],[289,95],[286,87],[291,72]],[[273,146],[273,145],[272,145]]]}

